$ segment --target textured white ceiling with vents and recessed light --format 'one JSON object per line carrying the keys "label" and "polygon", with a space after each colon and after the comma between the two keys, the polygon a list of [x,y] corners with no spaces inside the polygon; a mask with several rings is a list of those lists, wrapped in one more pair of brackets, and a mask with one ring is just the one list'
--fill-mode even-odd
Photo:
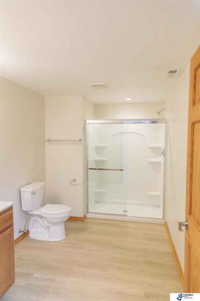
{"label": "textured white ceiling with vents and recessed light", "polygon": [[[1,0],[1,76],[94,103],[164,101],[200,44],[200,1]],[[93,89],[88,83],[107,83]]]}

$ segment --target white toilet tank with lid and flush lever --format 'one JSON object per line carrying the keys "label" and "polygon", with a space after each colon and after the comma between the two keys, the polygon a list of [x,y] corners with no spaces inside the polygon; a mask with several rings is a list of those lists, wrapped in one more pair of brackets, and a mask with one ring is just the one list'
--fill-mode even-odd
{"label": "white toilet tank with lid and flush lever", "polygon": [[34,182],[20,188],[23,211],[31,211],[41,206],[44,188],[44,182]]}

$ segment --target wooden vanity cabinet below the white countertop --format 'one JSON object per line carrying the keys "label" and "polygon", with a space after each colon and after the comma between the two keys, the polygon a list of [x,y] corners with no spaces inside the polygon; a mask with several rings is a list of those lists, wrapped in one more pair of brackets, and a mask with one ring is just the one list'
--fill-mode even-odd
{"label": "wooden vanity cabinet below the white countertop", "polygon": [[12,206],[0,212],[0,298],[15,281]]}

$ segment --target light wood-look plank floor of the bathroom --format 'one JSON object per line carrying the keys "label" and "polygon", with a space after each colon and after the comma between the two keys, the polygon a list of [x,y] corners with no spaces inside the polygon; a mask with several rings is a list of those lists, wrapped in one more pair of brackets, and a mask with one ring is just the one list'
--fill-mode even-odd
{"label": "light wood-look plank floor of the bathroom", "polygon": [[58,242],[15,246],[15,283],[1,301],[169,301],[183,292],[164,225],[68,220]]}

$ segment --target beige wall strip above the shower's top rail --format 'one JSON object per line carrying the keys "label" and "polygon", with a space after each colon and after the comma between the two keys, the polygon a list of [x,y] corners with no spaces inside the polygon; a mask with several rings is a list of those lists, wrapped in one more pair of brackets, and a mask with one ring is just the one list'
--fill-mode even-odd
{"label": "beige wall strip above the shower's top rail", "polygon": [[147,119],[165,118],[165,111],[159,117],[156,112],[165,108],[159,103],[96,104],[95,119]]}

